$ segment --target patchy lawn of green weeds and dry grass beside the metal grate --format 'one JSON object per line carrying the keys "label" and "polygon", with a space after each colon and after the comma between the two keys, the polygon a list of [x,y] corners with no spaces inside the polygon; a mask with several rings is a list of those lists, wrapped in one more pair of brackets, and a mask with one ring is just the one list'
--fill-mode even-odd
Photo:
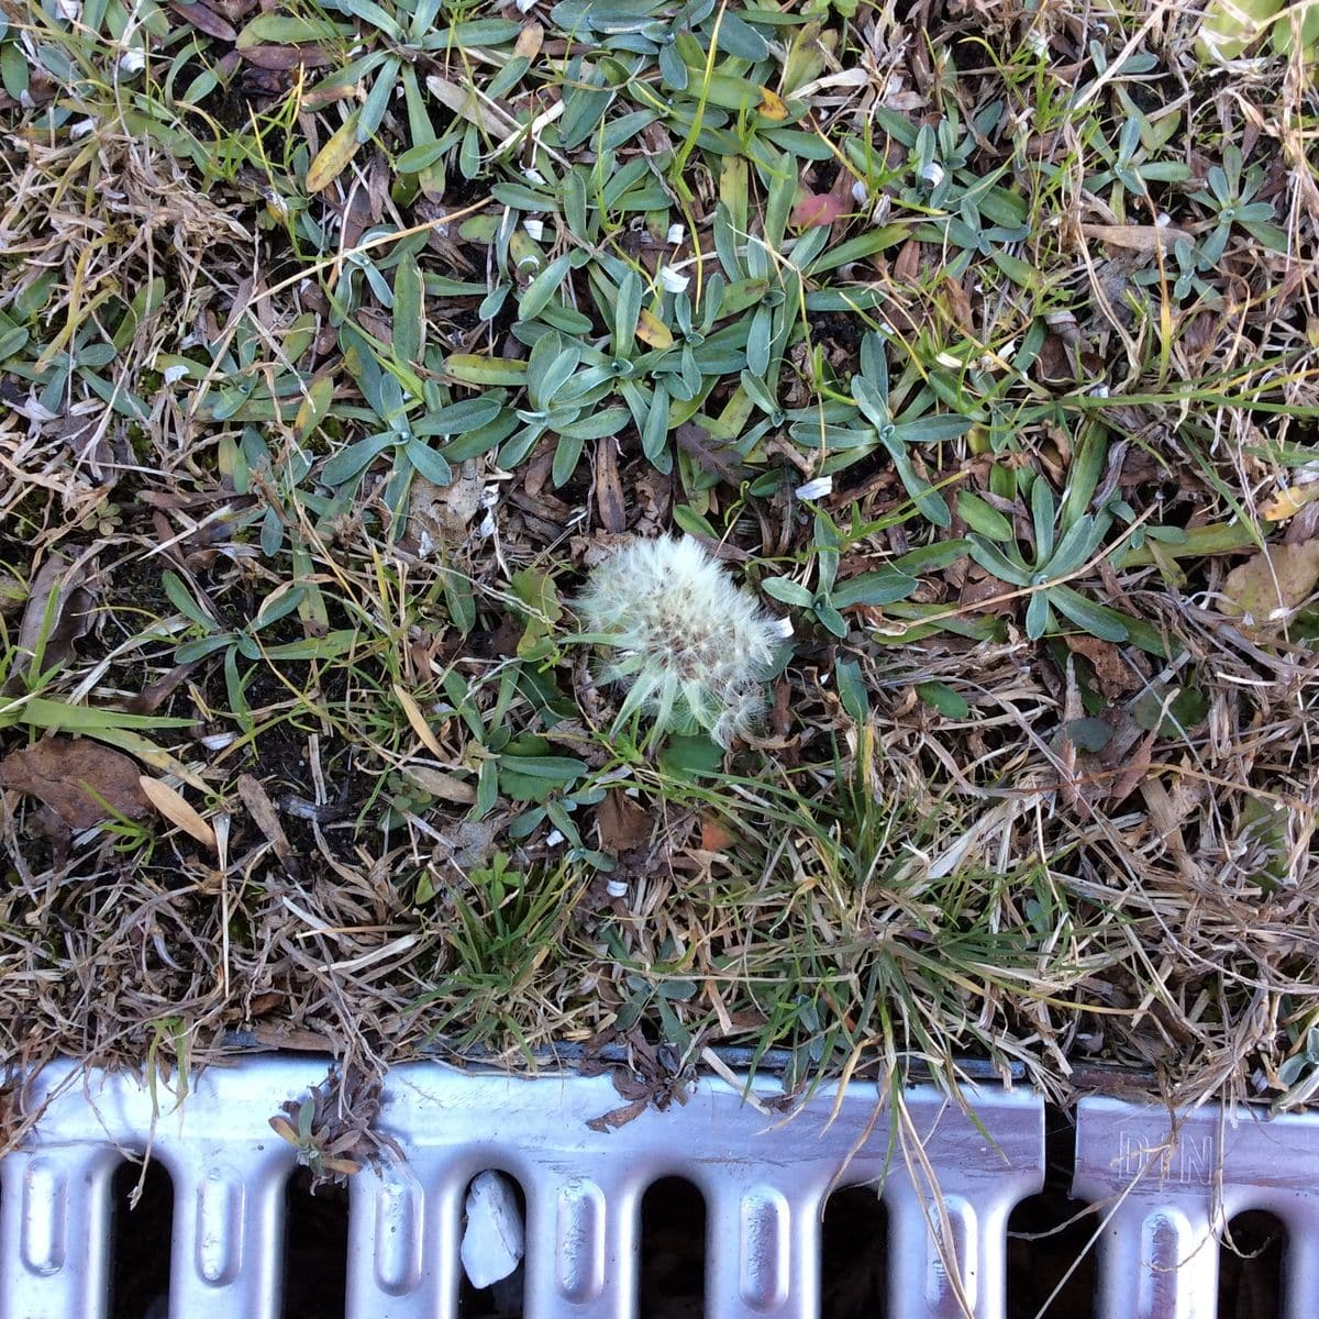
{"label": "patchy lawn of green weeds and dry grass beside the metal grate", "polygon": [[0,8],[11,1058],[1319,1084],[1308,0]]}

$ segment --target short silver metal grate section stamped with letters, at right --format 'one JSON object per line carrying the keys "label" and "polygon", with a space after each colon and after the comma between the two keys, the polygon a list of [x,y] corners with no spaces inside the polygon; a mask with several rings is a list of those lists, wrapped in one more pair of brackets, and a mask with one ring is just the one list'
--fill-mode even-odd
{"label": "short silver metal grate section stamped with letters, at right", "polygon": [[1087,1099],[1072,1195],[1096,1203],[1096,1319],[1213,1319],[1219,1240],[1245,1210],[1287,1231],[1282,1319],[1319,1319],[1319,1122]]}

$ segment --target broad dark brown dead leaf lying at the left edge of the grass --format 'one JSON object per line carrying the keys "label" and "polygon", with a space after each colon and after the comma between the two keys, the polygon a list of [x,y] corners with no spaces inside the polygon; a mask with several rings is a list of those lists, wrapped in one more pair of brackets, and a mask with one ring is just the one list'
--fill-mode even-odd
{"label": "broad dark brown dead leaf lying at the left edge of the grass", "polygon": [[149,810],[137,766],[123,752],[86,737],[44,737],[0,760],[0,786],[45,802],[70,828]]}

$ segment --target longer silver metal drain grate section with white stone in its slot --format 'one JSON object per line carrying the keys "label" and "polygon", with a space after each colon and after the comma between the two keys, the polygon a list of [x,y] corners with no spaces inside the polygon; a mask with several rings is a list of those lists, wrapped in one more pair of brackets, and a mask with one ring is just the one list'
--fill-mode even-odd
{"label": "longer silver metal drain grate section with white stone in its slot", "polygon": [[[71,1075],[46,1068],[36,1100]],[[297,1155],[268,1119],[324,1075],[305,1059],[212,1067],[177,1111],[161,1093],[154,1121],[131,1078],[66,1086],[0,1161],[0,1319],[104,1315],[109,1181],[124,1151],[148,1149],[174,1186],[173,1319],[274,1319]],[[670,1175],[706,1199],[707,1319],[815,1315],[824,1200],[871,1182],[888,1210],[890,1315],[1001,1319],[1008,1215],[1043,1181],[1043,1105],[987,1087],[971,1096],[971,1120],[934,1089],[905,1099],[905,1138],[894,1138],[893,1111],[869,1084],[847,1087],[836,1109],[822,1091],[785,1120],[704,1080],[686,1105],[595,1132],[587,1121],[620,1104],[604,1076],[398,1067],[380,1125],[406,1158],[351,1181],[347,1314],[454,1319],[463,1192],[501,1169],[526,1195],[528,1319],[636,1314],[641,1196]]]}

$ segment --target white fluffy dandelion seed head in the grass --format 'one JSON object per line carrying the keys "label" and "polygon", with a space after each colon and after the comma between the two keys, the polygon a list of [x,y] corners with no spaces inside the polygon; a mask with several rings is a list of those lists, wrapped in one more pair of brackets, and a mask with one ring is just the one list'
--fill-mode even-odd
{"label": "white fluffy dandelion seed head in the grass", "polygon": [[721,747],[760,712],[777,620],[690,536],[624,546],[591,572],[576,609],[584,632],[609,637],[600,677],[629,686],[624,711],[699,725]]}

